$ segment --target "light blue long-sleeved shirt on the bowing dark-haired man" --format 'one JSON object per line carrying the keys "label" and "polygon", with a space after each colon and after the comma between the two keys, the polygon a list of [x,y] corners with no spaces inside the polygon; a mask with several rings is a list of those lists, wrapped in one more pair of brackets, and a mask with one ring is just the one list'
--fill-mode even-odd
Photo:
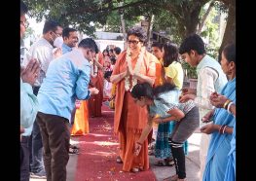
{"label": "light blue long-sleeved shirt on the bowing dark-haired man", "polygon": [[91,65],[80,49],[52,61],[37,95],[39,111],[70,120],[75,100],[90,97],[90,72]]}

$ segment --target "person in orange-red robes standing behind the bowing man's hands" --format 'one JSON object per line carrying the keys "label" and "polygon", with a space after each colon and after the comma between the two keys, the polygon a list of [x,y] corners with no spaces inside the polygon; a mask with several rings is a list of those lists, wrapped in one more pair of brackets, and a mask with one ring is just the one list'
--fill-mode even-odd
{"label": "person in orange-red robes standing behind the bowing man's hands", "polygon": [[88,103],[90,117],[101,116],[101,106],[103,101],[103,55],[96,54],[93,61],[91,61],[91,85],[96,88],[98,94],[91,95]]}

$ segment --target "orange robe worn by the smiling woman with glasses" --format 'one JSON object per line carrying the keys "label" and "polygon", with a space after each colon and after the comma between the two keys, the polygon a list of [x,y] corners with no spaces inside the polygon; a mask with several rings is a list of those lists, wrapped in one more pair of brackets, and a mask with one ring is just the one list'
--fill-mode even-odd
{"label": "orange robe worn by the smiling woman with glasses", "polygon": [[[156,63],[153,54],[145,52],[140,68],[140,73],[155,79]],[[131,61],[134,69],[136,60]],[[120,54],[115,64],[113,75],[118,75],[127,70],[126,51]],[[147,108],[136,105],[129,91],[125,90],[125,79],[120,81],[116,90],[114,131],[119,133],[120,157],[123,161],[123,170],[130,171],[133,167],[143,170],[149,168],[148,141],[143,143],[140,154],[133,154],[134,143],[141,135],[142,129],[147,124]]]}

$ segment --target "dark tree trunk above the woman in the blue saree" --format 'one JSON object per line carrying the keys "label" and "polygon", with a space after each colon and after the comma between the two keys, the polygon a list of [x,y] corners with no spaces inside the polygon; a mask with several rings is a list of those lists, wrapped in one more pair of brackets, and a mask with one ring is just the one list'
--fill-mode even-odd
{"label": "dark tree trunk above the woman in the blue saree", "polygon": [[227,25],[221,47],[219,49],[219,61],[221,59],[221,53],[223,48],[230,43],[236,44],[236,0],[232,0],[229,4]]}

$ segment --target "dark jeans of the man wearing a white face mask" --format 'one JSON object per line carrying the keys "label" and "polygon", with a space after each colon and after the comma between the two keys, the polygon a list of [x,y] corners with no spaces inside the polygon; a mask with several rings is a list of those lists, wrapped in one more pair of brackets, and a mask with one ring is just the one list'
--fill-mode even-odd
{"label": "dark jeans of the man wearing a white face mask", "polygon": [[[40,87],[33,87],[33,93],[37,95]],[[31,144],[31,163],[30,170],[33,173],[39,173],[41,171],[45,172],[45,167],[43,163],[43,142],[40,133],[40,128],[38,127],[37,120],[34,122],[33,130],[31,134],[32,144]]]}

